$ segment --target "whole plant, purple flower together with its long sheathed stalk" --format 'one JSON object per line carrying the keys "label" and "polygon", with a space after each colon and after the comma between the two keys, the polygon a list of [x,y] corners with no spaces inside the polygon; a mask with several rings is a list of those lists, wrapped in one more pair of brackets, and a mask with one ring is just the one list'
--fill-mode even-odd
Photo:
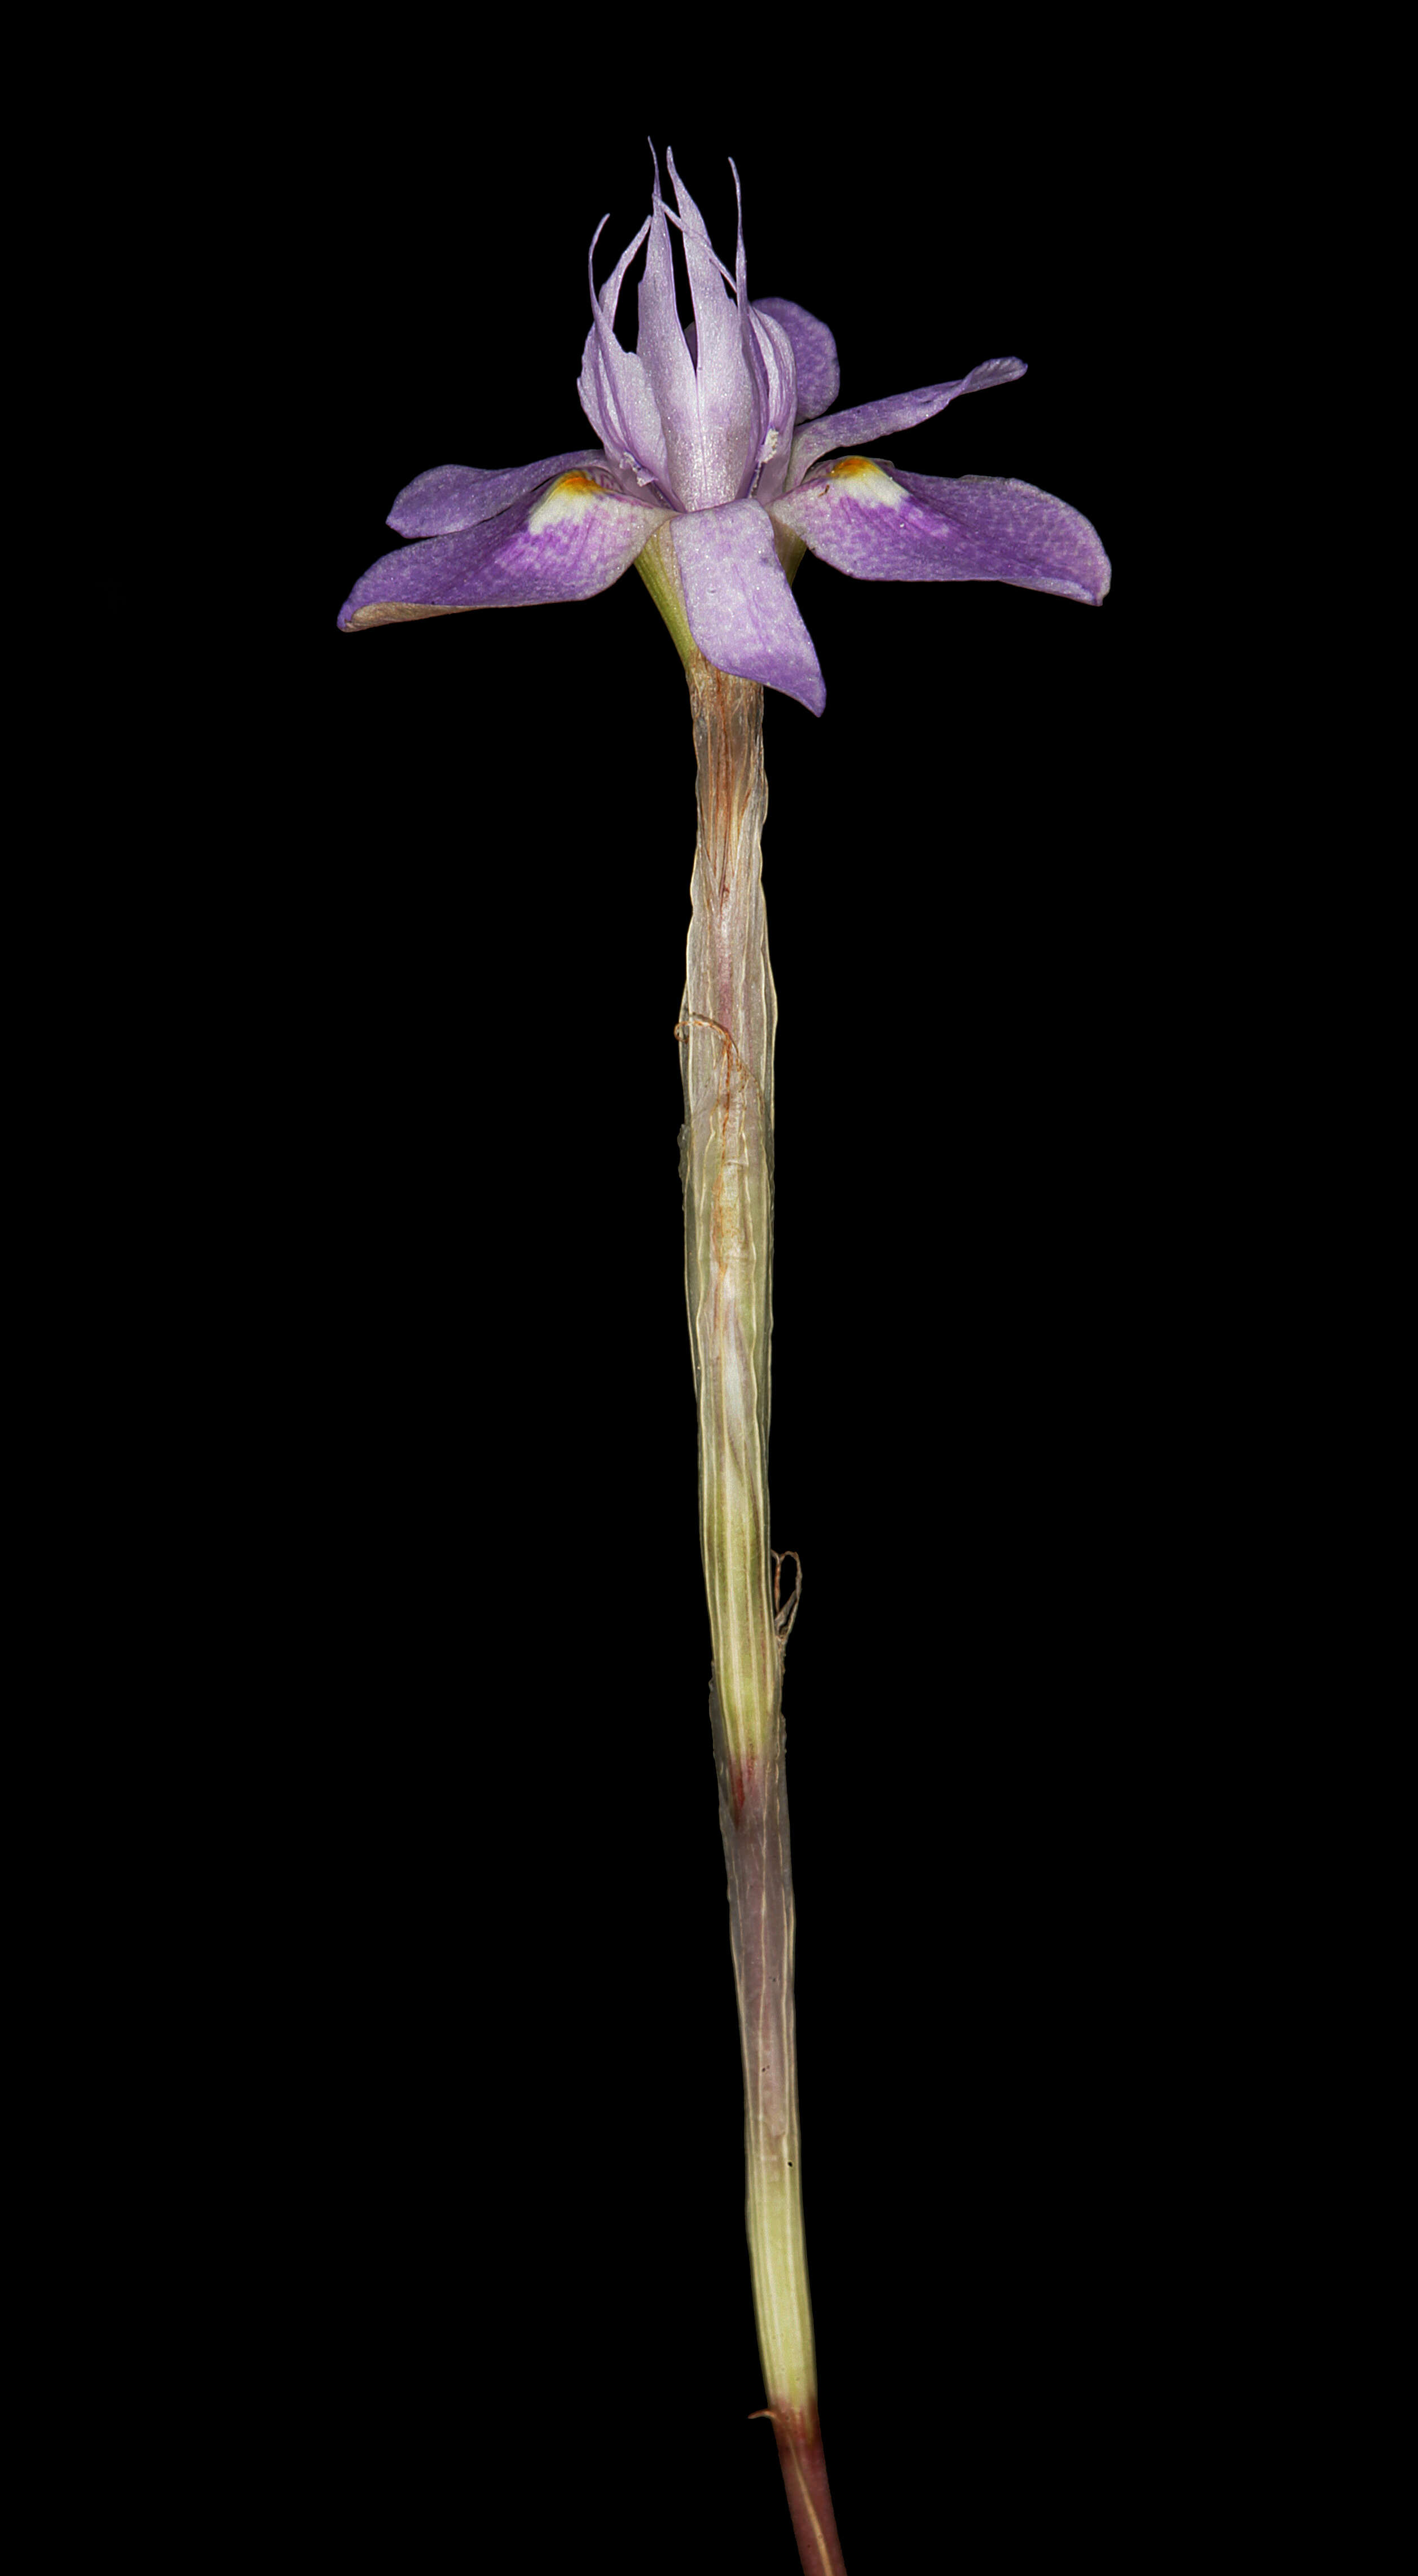
{"label": "whole plant, purple flower together with its long sheathed stalk", "polygon": [[[780,1605],[767,1515],[777,1005],[759,881],[764,685],[816,716],[826,706],[790,587],[806,549],[867,582],[1014,582],[1094,605],[1109,562],[1089,520],[1035,484],[988,474],[950,482],[857,453],[960,394],[1011,384],[1024,374],[1019,358],[834,412],[839,368],[826,322],[785,296],[749,304],[744,224],[731,273],[674,155],[669,175],[679,211],[661,201],[656,162],[649,222],[600,291],[592,270],[579,397],[600,448],[419,474],[389,513],[391,528],[419,544],[371,564],[340,626],[358,634],[461,608],[584,600],[636,564],[690,680],[700,835],[677,1020],[679,1170],[710,1721],[744,2040],[749,2259],[762,2414],[777,2434],[803,2571],[847,2576],[818,2432],[793,2035],[782,1651],[798,1582]],[[685,242],[692,327],[677,312],[669,224]],[[628,353],[615,312],[641,242],[641,332]]]}

